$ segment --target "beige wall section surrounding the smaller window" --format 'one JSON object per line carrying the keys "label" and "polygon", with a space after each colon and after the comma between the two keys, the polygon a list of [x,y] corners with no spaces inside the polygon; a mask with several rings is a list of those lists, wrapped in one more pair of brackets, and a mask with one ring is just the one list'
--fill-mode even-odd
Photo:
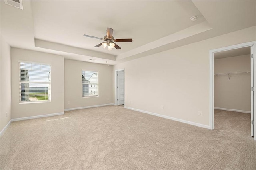
{"label": "beige wall section surrounding the smaller window", "polygon": [[[64,109],[109,104],[112,101],[112,66],[64,60]],[[99,97],[82,97],[82,70],[99,72]],[[68,104],[70,101],[70,104]]]}

